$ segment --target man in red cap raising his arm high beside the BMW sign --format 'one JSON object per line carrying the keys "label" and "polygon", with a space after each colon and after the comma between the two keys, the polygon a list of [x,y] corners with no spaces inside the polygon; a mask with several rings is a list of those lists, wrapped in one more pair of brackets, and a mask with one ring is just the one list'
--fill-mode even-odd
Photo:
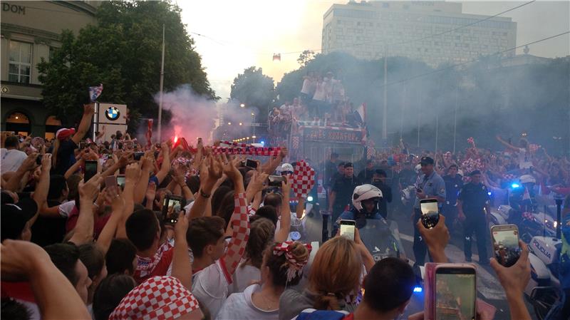
{"label": "man in red cap raising his arm high beside the BMW sign", "polygon": [[83,105],[83,117],[79,123],[78,130],[74,128],[61,128],[56,132],[56,144],[53,148],[54,154],[56,154],[55,162],[56,165],[53,168],[53,173],[58,175],[65,175],[66,171],[75,162],[75,150],[77,149],[78,143],[86,135],[91,125],[91,119],[95,113],[95,107],[93,103],[88,105]]}

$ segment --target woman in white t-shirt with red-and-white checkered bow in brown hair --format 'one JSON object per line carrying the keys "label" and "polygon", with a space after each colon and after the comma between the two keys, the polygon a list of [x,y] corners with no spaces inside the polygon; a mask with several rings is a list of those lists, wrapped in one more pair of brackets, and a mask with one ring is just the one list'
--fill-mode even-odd
{"label": "woman in white t-shirt with red-and-white checkered bow in brown hair", "polygon": [[310,253],[311,246],[301,242],[268,247],[261,264],[261,285],[253,284],[242,293],[230,295],[216,319],[279,319],[279,297],[286,287],[299,283]]}

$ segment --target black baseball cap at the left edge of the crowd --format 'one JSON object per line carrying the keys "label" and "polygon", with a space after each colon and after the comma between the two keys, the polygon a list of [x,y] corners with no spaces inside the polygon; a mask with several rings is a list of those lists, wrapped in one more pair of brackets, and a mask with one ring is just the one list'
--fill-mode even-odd
{"label": "black baseball cap at the left edge of the crowd", "polygon": [[1,241],[19,239],[26,227],[26,222],[38,212],[38,204],[31,198],[21,199],[18,203],[2,204],[0,211]]}

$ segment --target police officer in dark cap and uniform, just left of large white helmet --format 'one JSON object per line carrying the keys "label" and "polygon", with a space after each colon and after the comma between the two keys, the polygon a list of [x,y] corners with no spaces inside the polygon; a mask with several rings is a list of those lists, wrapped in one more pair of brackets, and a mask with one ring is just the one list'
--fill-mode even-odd
{"label": "police officer in dark cap and uniform, just left of large white helmet", "polygon": [[328,199],[328,212],[332,212],[332,221],[336,221],[346,206],[352,202],[353,190],[358,185],[361,185],[361,182],[354,175],[352,162],[346,162],[344,164],[344,175],[336,178]]}

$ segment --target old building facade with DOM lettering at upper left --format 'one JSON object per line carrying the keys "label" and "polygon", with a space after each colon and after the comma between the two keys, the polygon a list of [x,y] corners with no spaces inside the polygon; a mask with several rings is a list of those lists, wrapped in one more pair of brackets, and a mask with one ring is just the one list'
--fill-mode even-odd
{"label": "old building facade with DOM lettering at upper left", "polygon": [[53,138],[61,121],[41,103],[37,64],[61,46],[60,34],[95,24],[100,1],[2,1],[1,130]]}

